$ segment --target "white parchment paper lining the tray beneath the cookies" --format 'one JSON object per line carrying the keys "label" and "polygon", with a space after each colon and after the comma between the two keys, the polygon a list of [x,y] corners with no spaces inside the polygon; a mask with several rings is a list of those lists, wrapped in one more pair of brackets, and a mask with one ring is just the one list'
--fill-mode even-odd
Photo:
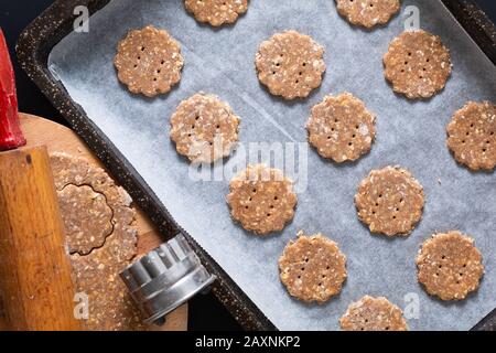
{"label": "white parchment paper lining the tray beneath the cookies", "polygon": [[[90,18],[89,33],[73,33],[51,53],[50,66],[88,117],[108,136],[169,208],[279,329],[337,330],[347,306],[364,295],[386,296],[410,312],[420,301],[412,330],[467,330],[496,308],[496,175],[459,167],[445,147],[445,126],[468,99],[496,101],[496,68],[440,1],[405,1],[421,10],[421,26],[442,36],[454,72],[446,89],[428,101],[396,96],[382,75],[382,55],[403,30],[397,17],[367,32],[338,17],[332,0],[251,0],[248,13],[219,30],[198,24],[181,0],[114,0]],[[166,29],[183,49],[181,84],[145,99],[119,84],[112,65],[116,44],[132,28]],[[308,99],[285,103],[260,86],[255,54],[262,40],[294,29],[325,46],[327,73]],[[377,142],[369,156],[338,167],[309,149],[309,186],[296,216],[280,235],[259,238],[233,223],[225,203],[228,181],[194,182],[188,164],[169,139],[179,103],[204,90],[227,100],[242,118],[240,140],[301,141],[310,108],[326,94],[351,92],[378,115]],[[239,158],[235,154],[229,163]],[[371,236],[356,216],[354,195],[373,169],[400,164],[423,184],[424,217],[413,234],[388,240]],[[291,299],[277,260],[299,229],[323,232],[348,257],[342,295],[325,306]],[[460,303],[430,298],[417,282],[419,246],[436,231],[461,229],[476,239],[485,258],[481,289]]]}

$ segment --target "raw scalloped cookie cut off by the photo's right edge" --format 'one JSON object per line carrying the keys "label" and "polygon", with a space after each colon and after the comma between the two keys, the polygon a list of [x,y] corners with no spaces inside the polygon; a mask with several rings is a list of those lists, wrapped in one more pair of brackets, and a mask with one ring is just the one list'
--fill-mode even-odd
{"label": "raw scalloped cookie cut off by the photo's right edge", "polygon": [[496,167],[496,106],[468,101],[448,126],[448,147],[471,170]]}

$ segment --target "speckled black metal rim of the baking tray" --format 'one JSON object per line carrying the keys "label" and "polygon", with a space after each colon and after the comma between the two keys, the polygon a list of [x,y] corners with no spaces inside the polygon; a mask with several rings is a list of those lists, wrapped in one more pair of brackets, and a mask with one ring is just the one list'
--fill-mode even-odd
{"label": "speckled black metal rim of the baking tray", "polygon": [[[43,94],[61,111],[71,127],[86,141],[95,154],[109,169],[117,181],[127,189],[136,204],[143,210],[164,236],[164,240],[184,233],[205,267],[218,280],[213,292],[246,330],[276,330],[276,327],[251,302],[216,261],[169,214],[140,174],[128,163],[120,151],[73,101],[63,85],[48,71],[47,60],[52,49],[73,30],[77,15],[74,9],[85,6],[93,14],[110,0],[56,0],[21,34],[18,60]],[[496,26],[473,0],[442,0],[466,32],[496,65]],[[496,310],[473,330],[496,331]]]}

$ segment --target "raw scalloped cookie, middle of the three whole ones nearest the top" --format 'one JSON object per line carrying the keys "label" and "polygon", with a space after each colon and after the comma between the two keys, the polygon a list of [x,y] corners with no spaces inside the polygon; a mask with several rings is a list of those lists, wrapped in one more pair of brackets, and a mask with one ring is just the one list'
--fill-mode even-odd
{"label": "raw scalloped cookie, middle of the three whole ones nearest the top", "polygon": [[274,34],[260,44],[258,78],[270,93],[285,99],[304,98],[320,87],[325,72],[324,49],[296,31]]}

